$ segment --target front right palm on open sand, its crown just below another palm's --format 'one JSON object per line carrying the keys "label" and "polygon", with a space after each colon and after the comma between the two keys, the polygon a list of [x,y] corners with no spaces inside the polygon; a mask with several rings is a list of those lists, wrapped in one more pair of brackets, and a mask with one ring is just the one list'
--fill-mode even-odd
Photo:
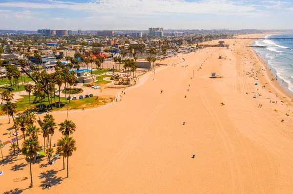
{"label": "front right palm on open sand, its crown just below another palm's", "polygon": [[75,140],[72,137],[65,135],[61,140],[58,141],[58,144],[62,145],[63,156],[67,158],[67,177],[68,175],[68,159],[72,156],[72,152],[76,151]]}

